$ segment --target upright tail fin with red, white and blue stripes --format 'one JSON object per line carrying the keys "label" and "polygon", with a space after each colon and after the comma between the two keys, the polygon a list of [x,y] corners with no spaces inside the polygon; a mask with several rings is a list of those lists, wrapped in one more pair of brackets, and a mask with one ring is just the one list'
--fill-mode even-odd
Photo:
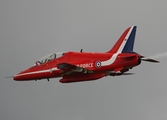
{"label": "upright tail fin with red, white and blue stripes", "polygon": [[108,53],[126,53],[133,52],[137,26],[131,26],[124,31],[113,48]]}

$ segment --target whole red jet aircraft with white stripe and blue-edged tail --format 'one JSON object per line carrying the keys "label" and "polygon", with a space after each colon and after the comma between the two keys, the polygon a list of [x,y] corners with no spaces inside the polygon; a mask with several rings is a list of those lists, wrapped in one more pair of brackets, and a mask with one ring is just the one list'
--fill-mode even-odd
{"label": "whole red jet aircraft with white stripe and blue-edged tail", "polygon": [[41,80],[61,77],[61,83],[97,80],[104,76],[126,75],[145,58],[133,51],[136,26],[127,28],[111,50],[99,52],[52,53],[13,77],[16,81]]}

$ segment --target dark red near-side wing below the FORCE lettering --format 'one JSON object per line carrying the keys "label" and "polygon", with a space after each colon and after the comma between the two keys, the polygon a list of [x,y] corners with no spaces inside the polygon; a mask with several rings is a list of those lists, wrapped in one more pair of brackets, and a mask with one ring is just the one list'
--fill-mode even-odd
{"label": "dark red near-side wing below the FORCE lettering", "polygon": [[79,67],[70,63],[60,63],[57,65],[58,69],[60,69],[65,75],[69,75],[72,73],[80,72],[80,73],[87,73],[93,72],[87,68]]}

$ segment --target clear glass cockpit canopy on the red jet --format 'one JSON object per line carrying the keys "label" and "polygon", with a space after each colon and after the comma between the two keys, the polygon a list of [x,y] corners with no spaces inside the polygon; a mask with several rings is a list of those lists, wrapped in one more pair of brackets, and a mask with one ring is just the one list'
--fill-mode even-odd
{"label": "clear glass cockpit canopy on the red jet", "polygon": [[59,58],[59,57],[63,56],[64,54],[65,54],[65,52],[52,53],[52,54],[49,54],[47,56],[44,56],[43,58],[41,58],[37,62],[40,64],[44,64],[44,63],[49,62],[53,59]]}

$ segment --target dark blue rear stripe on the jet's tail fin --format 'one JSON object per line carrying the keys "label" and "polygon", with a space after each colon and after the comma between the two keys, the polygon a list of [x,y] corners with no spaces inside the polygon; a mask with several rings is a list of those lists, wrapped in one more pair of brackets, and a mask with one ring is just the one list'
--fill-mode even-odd
{"label": "dark blue rear stripe on the jet's tail fin", "polygon": [[126,45],[124,46],[122,53],[127,53],[127,52],[133,52],[133,45],[134,45],[134,41],[135,41],[135,35],[136,35],[136,29],[137,26],[133,27],[133,30],[126,42]]}

